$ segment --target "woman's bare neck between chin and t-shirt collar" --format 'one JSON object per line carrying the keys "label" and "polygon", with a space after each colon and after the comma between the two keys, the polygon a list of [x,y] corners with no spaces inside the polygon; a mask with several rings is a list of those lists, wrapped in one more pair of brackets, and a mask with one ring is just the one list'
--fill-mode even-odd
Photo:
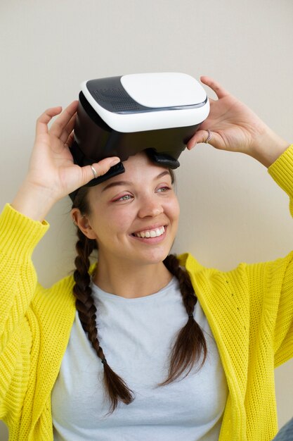
{"label": "woman's bare neck between chin and t-shirt collar", "polygon": [[163,262],[125,268],[122,263],[115,266],[99,259],[93,282],[105,292],[135,299],[158,292],[168,285],[171,278]]}

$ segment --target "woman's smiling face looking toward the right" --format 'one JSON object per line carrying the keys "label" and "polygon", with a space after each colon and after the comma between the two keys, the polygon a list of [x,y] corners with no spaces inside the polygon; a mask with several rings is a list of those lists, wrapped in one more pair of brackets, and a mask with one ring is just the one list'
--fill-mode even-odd
{"label": "woman's smiling face looking toward the right", "polygon": [[178,227],[171,175],[143,153],[130,156],[124,167],[122,175],[90,188],[87,236],[98,242],[99,260],[161,262]]}

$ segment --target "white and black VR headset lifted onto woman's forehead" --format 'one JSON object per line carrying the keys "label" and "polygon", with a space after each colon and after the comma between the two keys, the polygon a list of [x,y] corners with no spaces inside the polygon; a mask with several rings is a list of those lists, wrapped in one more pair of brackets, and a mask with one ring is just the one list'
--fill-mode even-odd
{"label": "white and black VR headset lifted onto woman's forehead", "polygon": [[86,166],[109,156],[121,160],[87,186],[124,173],[123,161],[143,150],[155,163],[177,168],[185,144],[209,115],[204,88],[185,73],[106,77],[85,81],[81,88],[70,147],[74,163]]}

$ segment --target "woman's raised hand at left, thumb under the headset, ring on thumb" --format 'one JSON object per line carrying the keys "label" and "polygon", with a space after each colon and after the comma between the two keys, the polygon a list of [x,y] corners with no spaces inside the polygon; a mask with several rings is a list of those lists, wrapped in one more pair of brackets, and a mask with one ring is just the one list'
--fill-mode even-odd
{"label": "woman's raised hand at left, thumb under the headset, ring on thumb", "polygon": [[[37,120],[29,170],[12,203],[14,209],[37,221],[44,220],[56,201],[93,179],[91,166],[77,166],[70,153],[77,104],[73,101],[62,113],[61,107],[48,108]],[[48,128],[54,116],[58,118]],[[118,162],[115,156],[93,167],[100,176]]]}

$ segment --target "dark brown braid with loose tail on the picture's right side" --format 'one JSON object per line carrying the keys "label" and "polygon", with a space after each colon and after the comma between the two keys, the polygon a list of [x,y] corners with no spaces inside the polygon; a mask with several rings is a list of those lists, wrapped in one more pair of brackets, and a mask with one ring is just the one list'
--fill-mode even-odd
{"label": "dark brown braid with loose tail on the picture's right side", "polygon": [[202,352],[203,356],[199,369],[202,368],[207,357],[207,343],[204,334],[200,325],[198,325],[193,317],[197,297],[193,290],[190,277],[187,271],[179,266],[178,259],[174,254],[167,256],[164,260],[164,265],[170,273],[175,275],[178,279],[183,304],[188,313],[188,321],[178,332],[177,340],[171,349],[168,378],[159,384],[161,386],[176,380],[186,369],[188,369],[188,371],[185,373],[185,376],[188,375],[194,364],[200,361]]}

